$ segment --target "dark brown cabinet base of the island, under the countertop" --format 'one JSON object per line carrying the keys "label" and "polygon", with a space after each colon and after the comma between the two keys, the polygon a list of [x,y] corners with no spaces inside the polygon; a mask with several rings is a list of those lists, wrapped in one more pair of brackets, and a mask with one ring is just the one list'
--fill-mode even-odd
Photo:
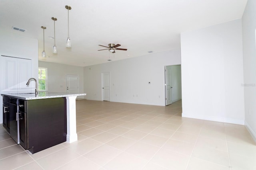
{"label": "dark brown cabinet base of the island, under the countertop", "polygon": [[3,126],[24,149],[36,153],[66,141],[66,98],[21,100],[4,96],[5,100]]}

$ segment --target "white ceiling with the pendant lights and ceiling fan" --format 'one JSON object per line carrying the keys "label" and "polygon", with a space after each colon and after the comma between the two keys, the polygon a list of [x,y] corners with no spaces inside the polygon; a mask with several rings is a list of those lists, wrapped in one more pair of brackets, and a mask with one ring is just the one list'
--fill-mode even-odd
{"label": "white ceiling with the pendant lights and ceiling fan", "polygon": [[[242,17],[247,0],[1,0],[0,30],[38,39],[39,60],[89,66],[180,48],[180,33]],[[68,37],[70,5],[70,39]],[[52,53],[56,17],[56,46]],[[16,31],[12,26],[26,29]],[[45,51],[42,58],[43,29]],[[121,44],[113,55],[98,45]]]}

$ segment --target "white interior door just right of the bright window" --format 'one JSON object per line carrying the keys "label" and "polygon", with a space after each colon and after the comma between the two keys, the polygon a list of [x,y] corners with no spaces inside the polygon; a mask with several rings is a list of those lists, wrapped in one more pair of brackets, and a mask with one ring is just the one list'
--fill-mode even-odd
{"label": "white interior door just right of the bright window", "polygon": [[78,75],[67,75],[67,93],[78,94]]}

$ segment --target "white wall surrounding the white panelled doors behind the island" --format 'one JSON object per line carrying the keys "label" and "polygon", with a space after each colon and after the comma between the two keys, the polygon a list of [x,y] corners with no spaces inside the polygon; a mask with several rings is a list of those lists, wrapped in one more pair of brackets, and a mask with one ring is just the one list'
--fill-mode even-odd
{"label": "white wall surrounding the white panelled doors behind the island", "polygon": [[[12,33],[12,31],[4,32],[1,29],[0,37],[2,40],[0,41],[0,55],[31,59],[32,77],[38,79],[38,40],[24,37],[22,33]],[[0,91],[1,90],[0,84]],[[0,107],[0,123],[2,123],[2,97],[0,98]]]}

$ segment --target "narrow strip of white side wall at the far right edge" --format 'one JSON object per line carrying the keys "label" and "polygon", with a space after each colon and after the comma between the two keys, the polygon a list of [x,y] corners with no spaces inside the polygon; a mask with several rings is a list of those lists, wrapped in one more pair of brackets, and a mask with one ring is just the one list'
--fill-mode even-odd
{"label": "narrow strip of white side wall at the far right edge", "polygon": [[256,1],[248,0],[243,25],[245,124],[256,141]]}

